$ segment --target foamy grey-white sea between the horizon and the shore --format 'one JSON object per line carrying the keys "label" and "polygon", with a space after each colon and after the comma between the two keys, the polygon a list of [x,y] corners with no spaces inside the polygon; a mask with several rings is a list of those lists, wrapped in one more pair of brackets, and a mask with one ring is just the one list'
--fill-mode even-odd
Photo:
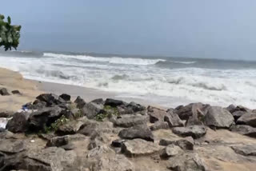
{"label": "foamy grey-white sea between the horizon and the shore", "polygon": [[256,62],[94,53],[0,52],[24,78],[99,89],[163,105],[203,102],[256,109]]}

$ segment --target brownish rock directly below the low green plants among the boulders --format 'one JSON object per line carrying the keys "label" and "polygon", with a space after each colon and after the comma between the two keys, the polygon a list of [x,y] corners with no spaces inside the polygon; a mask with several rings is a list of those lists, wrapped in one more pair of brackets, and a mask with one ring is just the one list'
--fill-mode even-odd
{"label": "brownish rock directly below the low green plants among the boulders", "polygon": [[59,126],[56,132],[59,135],[75,134],[83,124],[83,121],[69,121],[64,125]]}

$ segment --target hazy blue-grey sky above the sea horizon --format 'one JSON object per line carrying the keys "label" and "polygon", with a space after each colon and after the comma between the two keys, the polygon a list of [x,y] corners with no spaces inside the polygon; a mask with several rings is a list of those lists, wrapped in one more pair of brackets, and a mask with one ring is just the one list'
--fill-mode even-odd
{"label": "hazy blue-grey sky above the sea horizon", "polygon": [[19,50],[256,60],[255,0],[1,0]]}

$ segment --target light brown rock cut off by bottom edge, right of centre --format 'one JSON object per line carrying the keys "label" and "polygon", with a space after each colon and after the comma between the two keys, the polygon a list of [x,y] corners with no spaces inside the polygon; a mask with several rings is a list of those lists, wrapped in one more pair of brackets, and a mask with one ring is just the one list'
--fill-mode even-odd
{"label": "light brown rock cut off by bottom edge, right of centre", "polygon": [[205,161],[198,153],[183,153],[176,157],[170,157],[167,168],[174,171],[206,171]]}

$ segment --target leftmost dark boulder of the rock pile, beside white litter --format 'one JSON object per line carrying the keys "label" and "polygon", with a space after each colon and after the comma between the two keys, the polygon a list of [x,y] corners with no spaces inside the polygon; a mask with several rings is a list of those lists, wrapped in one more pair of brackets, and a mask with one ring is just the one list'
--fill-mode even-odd
{"label": "leftmost dark boulder of the rock pile, beside white litter", "polygon": [[14,113],[13,118],[8,121],[6,129],[13,133],[24,133],[28,128],[28,118],[29,113]]}

